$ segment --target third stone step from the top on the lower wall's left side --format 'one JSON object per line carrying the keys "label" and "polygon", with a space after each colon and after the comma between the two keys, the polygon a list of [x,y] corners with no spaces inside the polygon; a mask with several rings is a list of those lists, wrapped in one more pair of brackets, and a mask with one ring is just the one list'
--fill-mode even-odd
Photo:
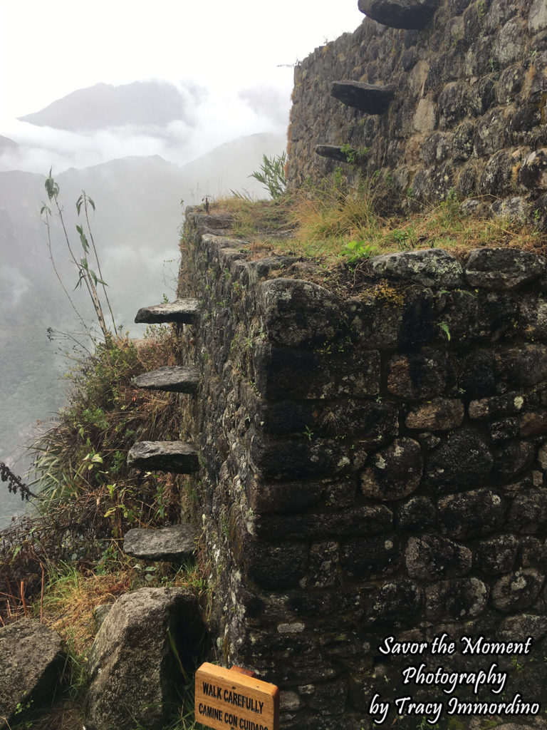
{"label": "third stone step from the top on the lower wall's left side", "polygon": [[127,456],[128,466],[141,471],[193,474],[199,469],[198,452],[183,441],[138,441]]}

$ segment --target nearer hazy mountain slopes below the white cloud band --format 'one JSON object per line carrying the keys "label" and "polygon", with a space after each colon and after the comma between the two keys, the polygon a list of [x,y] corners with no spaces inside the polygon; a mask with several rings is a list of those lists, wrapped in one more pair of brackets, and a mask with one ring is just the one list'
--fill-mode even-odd
{"label": "nearer hazy mountain slopes below the white cloud band", "polygon": [[[247,175],[260,167],[263,153],[281,154],[284,146],[283,135],[254,134],[182,167],[152,156],[121,158],[58,175],[54,171],[78,253],[75,202],[82,189],[96,204],[91,225],[118,324],[131,326],[139,337],[144,326],[132,324],[139,307],[157,304],[164,293],[173,298],[182,199],[185,205],[197,204],[205,194],[214,197],[230,188],[265,197],[260,184]],[[46,177],[47,173],[0,172],[0,461],[9,463],[18,445],[28,441],[36,420],[47,420],[63,406],[62,375],[69,367],[64,353],[82,339],[82,326],[55,278],[39,215],[47,201]],[[55,216],[52,252],[74,304],[93,321],[85,291],[74,291],[77,272]],[[53,341],[47,328],[53,329]],[[15,470],[24,469],[15,465]],[[15,502],[8,502],[0,491],[0,523],[7,504],[11,510]]]}

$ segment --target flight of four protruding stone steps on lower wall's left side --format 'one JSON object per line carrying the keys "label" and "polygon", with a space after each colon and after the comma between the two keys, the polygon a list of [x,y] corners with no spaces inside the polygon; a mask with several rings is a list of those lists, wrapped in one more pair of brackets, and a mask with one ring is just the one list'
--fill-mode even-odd
{"label": "flight of four protruding stone steps on lower wall's left side", "polygon": [[[195,324],[199,316],[197,299],[176,299],[165,304],[142,307],[135,322],[147,324]],[[131,379],[136,388],[195,395],[199,371],[194,366],[165,366]],[[144,472],[193,474],[199,469],[198,451],[183,441],[138,441],[128,452],[128,466]],[[150,561],[182,562],[195,554],[198,530],[189,524],[159,529],[137,528],[125,534],[123,550],[128,555]]]}

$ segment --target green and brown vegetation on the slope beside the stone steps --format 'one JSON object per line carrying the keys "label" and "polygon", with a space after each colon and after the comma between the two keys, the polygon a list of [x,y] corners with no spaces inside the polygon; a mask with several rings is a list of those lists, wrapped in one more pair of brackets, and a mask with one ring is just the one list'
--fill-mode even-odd
{"label": "green and brown vegetation on the slope beside the stone steps", "polygon": [[[144,585],[185,585],[206,610],[208,589],[195,564],[147,565],[121,550],[130,527],[176,523],[191,508],[186,477],[136,477],[125,463],[136,440],[178,439],[185,427],[180,398],[186,396],[131,385],[135,374],[174,364],[178,347],[166,326],[150,327],[141,342],[112,337],[96,343],[92,356],[71,367],[69,406],[35,445],[36,513],[0,533],[0,625],[28,615],[58,631],[69,648],[68,691],[12,730],[72,730],[81,724],[98,604]],[[14,484],[11,472],[4,469],[4,476]],[[185,681],[186,710],[170,730],[198,727]]]}

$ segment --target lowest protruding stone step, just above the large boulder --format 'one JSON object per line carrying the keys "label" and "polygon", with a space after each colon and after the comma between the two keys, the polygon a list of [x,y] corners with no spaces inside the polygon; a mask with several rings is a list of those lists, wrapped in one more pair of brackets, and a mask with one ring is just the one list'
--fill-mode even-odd
{"label": "lowest protruding stone step, just above the large boulder", "polygon": [[123,538],[123,550],[142,560],[182,562],[196,551],[199,530],[193,525],[174,525],[159,529],[134,528]]}

